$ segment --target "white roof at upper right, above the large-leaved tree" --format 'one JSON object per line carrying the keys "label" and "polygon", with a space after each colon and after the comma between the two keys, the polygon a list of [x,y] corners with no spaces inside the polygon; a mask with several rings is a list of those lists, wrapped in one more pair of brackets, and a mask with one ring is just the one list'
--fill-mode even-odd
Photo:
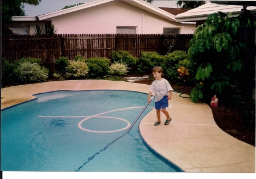
{"label": "white roof at upper right, above the large-leaved tree", "polygon": [[[237,5],[217,5],[216,3],[206,3],[205,5],[199,6],[195,9],[191,9],[185,13],[176,15],[177,22],[195,22],[197,20],[206,20],[210,14],[221,11],[222,13],[229,14],[232,16],[237,16],[241,14],[243,6]],[[251,12],[256,11],[255,6],[247,6],[247,10]]]}

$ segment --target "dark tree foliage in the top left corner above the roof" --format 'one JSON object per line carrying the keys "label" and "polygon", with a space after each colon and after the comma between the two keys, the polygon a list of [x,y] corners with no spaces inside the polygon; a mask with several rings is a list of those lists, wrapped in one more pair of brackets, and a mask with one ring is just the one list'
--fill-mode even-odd
{"label": "dark tree foliage in the top left corner above the roof", "polygon": [[2,0],[2,24],[11,22],[13,16],[24,16],[24,11],[20,7],[20,0]]}

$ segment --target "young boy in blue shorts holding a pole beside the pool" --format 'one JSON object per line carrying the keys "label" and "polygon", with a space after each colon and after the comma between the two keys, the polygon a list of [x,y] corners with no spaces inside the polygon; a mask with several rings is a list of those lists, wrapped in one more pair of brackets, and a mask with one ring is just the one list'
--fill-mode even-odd
{"label": "young boy in blue shorts holding a pole beside the pool", "polygon": [[168,100],[172,98],[172,87],[170,83],[162,78],[163,71],[160,66],[155,66],[152,70],[155,80],[152,82],[148,93],[147,101],[150,102],[150,98],[153,92],[155,92],[155,109],[156,116],[158,117],[158,121],[155,122],[155,126],[158,126],[161,123],[160,120],[160,112],[166,115],[166,122],[164,125],[168,125],[172,118],[170,117],[168,111],[166,111],[166,107],[168,107]]}

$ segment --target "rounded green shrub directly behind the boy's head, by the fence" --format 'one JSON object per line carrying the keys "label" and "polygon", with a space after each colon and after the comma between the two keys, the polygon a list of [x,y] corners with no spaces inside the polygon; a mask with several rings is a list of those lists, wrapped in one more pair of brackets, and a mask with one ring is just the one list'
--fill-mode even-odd
{"label": "rounded green shrub directly behind the boy's head, by the fence", "polygon": [[165,57],[157,52],[142,52],[139,58],[138,72],[150,74],[155,66],[160,66]]}

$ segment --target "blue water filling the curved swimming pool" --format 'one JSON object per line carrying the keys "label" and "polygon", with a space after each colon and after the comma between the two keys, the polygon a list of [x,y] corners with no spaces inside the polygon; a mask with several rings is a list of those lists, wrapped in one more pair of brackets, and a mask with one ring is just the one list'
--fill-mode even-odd
{"label": "blue water filling the curved swimming pool", "polygon": [[54,91],[2,110],[1,170],[180,172],[155,155],[130,124],[147,94],[133,91]]}

